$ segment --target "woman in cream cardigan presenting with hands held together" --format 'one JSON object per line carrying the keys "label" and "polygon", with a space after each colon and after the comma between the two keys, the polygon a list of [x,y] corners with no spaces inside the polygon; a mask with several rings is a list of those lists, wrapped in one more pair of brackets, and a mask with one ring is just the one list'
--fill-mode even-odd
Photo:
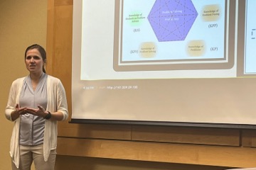
{"label": "woman in cream cardigan presenting with hands held together", "polygon": [[68,119],[65,89],[46,74],[46,50],[31,45],[25,51],[28,76],[11,84],[5,115],[14,122],[10,154],[12,169],[54,169],[57,121]]}

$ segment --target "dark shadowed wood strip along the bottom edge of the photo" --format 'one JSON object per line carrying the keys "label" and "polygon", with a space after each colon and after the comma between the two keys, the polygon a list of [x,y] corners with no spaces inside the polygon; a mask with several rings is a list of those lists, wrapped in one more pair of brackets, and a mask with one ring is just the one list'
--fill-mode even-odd
{"label": "dark shadowed wood strip along the bottom edge of the photo", "polygon": [[164,162],[130,161],[122,159],[102,159],[92,157],[66,157],[58,155],[55,169],[61,170],[223,170],[223,166],[203,166],[193,164],[171,164]]}

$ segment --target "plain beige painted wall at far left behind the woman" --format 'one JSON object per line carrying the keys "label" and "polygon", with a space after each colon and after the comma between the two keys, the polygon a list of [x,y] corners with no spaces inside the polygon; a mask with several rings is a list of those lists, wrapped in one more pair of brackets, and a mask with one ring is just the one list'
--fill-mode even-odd
{"label": "plain beige painted wall at far left behind the woman", "polygon": [[0,1],[0,170],[11,169],[9,142],[13,123],[4,109],[11,82],[28,74],[24,51],[38,43],[46,47],[47,0]]}

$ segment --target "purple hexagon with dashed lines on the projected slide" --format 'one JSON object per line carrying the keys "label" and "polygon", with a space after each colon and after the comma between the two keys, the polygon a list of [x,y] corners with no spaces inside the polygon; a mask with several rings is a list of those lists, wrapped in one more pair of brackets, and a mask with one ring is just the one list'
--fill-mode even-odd
{"label": "purple hexagon with dashed lines on the projected slide", "polygon": [[197,16],[191,0],[156,0],[147,18],[163,42],[185,40]]}

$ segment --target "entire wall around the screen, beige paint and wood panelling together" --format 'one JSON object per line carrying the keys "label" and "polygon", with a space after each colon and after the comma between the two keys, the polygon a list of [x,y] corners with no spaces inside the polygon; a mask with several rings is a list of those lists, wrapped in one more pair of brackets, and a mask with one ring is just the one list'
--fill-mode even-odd
{"label": "entire wall around the screen, beige paint and wood panelling together", "polygon": [[[23,64],[28,45],[46,47],[47,72],[63,81],[71,111],[72,4],[71,0],[48,0],[48,6],[46,0],[0,1],[0,170],[11,169],[9,140],[13,124],[4,117],[4,109],[11,82],[28,74]],[[256,166],[255,147],[255,130],[70,125],[66,121],[59,123],[56,169],[250,167]]]}

